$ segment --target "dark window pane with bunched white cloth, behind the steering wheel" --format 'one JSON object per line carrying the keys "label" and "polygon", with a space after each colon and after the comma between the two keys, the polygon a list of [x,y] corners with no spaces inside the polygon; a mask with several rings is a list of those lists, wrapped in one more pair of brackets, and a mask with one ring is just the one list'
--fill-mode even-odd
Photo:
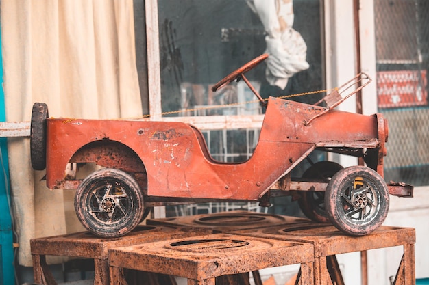
{"label": "dark window pane with bunched white cloth, behind the steering wheel", "polygon": [[[272,2],[158,0],[164,116],[260,113],[247,87],[232,83],[217,93],[210,87],[267,49],[269,59],[246,74],[262,97],[323,88],[319,0]],[[278,27],[267,24],[267,15]]]}

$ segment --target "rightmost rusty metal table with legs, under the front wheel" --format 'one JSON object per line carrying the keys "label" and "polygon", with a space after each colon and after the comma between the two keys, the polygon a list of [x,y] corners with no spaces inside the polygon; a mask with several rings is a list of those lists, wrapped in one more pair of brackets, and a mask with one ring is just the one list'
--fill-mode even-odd
{"label": "rightmost rusty metal table with legs, under the front wheel", "polygon": [[[315,249],[315,284],[344,284],[336,254],[361,252],[366,257],[369,249],[403,246],[404,254],[395,276],[395,285],[415,284],[415,229],[381,226],[365,236],[347,236],[330,224],[312,221],[282,226],[268,226],[252,230],[234,230],[230,234],[243,234],[265,239],[310,243]],[[366,265],[363,266],[363,284]]]}

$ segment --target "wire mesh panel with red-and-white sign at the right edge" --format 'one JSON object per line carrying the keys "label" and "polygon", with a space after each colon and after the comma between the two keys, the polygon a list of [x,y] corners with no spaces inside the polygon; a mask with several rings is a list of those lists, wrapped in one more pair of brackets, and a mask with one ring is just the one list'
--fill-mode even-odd
{"label": "wire mesh panel with red-and-white sign at the right edge", "polygon": [[429,1],[374,1],[378,109],[389,122],[385,178],[429,185]]}

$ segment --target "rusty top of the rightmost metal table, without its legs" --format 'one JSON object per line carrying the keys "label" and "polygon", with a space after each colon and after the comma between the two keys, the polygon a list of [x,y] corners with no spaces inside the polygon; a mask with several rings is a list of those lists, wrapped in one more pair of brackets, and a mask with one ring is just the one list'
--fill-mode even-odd
{"label": "rusty top of the rightmost metal table, without its legs", "polygon": [[315,256],[330,256],[347,252],[410,245],[415,243],[414,228],[381,226],[365,236],[348,236],[328,223],[306,221],[280,226],[267,226],[252,230],[234,230],[230,234],[257,236],[265,239],[297,241],[315,246]]}

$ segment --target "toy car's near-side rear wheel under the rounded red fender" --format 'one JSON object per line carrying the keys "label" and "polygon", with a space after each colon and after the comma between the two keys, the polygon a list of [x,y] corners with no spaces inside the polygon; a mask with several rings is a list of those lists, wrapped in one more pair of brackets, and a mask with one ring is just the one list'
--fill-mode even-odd
{"label": "toy car's near-side rear wheel under the rounded red fender", "polygon": [[136,180],[118,169],[101,169],[87,176],[75,195],[75,211],[84,227],[101,237],[123,236],[144,215],[143,193]]}

